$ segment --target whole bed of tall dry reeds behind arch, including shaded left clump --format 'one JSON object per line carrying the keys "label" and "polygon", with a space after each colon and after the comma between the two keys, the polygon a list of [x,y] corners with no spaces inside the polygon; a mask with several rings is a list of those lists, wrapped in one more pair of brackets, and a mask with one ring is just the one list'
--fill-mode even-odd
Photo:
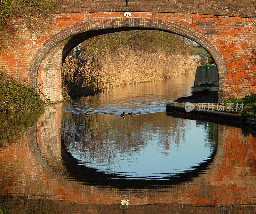
{"label": "whole bed of tall dry reeds behind arch, including shaded left clump", "polygon": [[[98,55],[96,57],[96,55]],[[62,82],[71,97],[95,94],[110,87],[136,84],[193,74],[196,62],[188,53],[146,52],[132,47],[109,49],[92,56],[86,51],[68,55],[62,68]]]}

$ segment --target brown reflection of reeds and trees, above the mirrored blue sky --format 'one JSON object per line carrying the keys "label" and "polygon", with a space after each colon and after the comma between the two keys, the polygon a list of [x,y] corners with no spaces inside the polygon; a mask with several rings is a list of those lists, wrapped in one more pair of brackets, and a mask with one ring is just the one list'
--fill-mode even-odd
{"label": "brown reflection of reeds and trees, above the mirrored blue sky", "polygon": [[[194,120],[167,117],[165,112],[134,117],[127,117],[124,123],[121,116],[98,114],[87,118],[85,115],[63,113],[61,136],[65,143],[73,143],[77,149],[89,151],[84,153],[91,155],[87,161],[92,162],[96,158],[98,161],[106,159],[111,162],[111,156],[115,156],[117,149],[122,154],[130,155],[133,150],[144,149],[150,135],[157,136],[155,139],[159,148],[164,148],[167,153],[170,149],[179,148],[188,127],[196,123]],[[203,127],[204,124],[208,134],[204,143],[214,147],[217,125],[200,122],[197,126]],[[172,142],[175,142],[175,148],[172,148]]]}

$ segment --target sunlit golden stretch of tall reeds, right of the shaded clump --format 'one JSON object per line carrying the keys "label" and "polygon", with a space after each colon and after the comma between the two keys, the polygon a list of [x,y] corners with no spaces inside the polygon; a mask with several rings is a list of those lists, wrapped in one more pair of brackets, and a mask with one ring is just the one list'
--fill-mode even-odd
{"label": "sunlit golden stretch of tall reeds, right of the shaded clump", "polygon": [[150,82],[193,74],[196,62],[189,54],[166,54],[164,51],[145,52],[123,47],[116,52],[100,55],[102,83],[108,87]]}

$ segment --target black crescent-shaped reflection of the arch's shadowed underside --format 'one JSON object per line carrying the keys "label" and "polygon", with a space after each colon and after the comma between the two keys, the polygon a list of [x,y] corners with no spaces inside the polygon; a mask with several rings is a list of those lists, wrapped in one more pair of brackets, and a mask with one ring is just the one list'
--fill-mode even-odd
{"label": "black crescent-shaped reflection of the arch's shadowed underside", "polygon": [[[218,147],[218,146],[217,146]],[[217,147],[214,148],[212,156],[208,157],[205,162],[197,164],[192,171],[177,173],[172,176],[163,177],[161,180],[155,179],[125,179],[126,176],[109,175],[96,169],[81,165],[76,158],[69,154],[66,145],[61,139],[61,158],[63,165],[66,166],[70,177],[77,181],[86,182],[87,185],[97,186],[112,186],[117,188],[145,188],[145,187],[159,187],[182,184],[186,181],[197,177],[204,170],[207,170],[214,160],[217,152]]]}

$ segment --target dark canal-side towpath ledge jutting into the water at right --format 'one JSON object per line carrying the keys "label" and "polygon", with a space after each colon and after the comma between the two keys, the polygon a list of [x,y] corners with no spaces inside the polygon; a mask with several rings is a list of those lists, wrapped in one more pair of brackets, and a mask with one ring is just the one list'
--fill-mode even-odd
{"label": "dark canal-side towpath ledge jutting into the water at right", "polygon": [[167,115],[191,119],[209,120],[233,126],[245,124],[256,130],[256,119],[242,114],[244,104],[218,103],[217,95],[188,96],[176,99],[166,105]]}

